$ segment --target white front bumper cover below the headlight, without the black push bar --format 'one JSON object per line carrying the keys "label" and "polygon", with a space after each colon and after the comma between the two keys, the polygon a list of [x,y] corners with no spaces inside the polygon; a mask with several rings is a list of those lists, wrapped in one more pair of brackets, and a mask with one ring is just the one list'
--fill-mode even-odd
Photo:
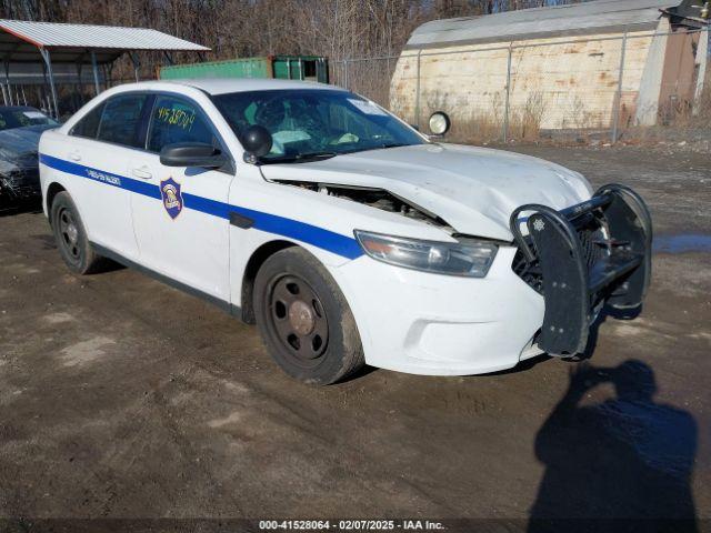
{"label": "white front bumper cover below the headlight, without the black push bar", "polygon": [[365,362],[427,375],[515,366],[541,351],[533,339],[543,298],[511,269],[501,247],[485,278],[457,278],[361,257],[332,269],[356,318]]}

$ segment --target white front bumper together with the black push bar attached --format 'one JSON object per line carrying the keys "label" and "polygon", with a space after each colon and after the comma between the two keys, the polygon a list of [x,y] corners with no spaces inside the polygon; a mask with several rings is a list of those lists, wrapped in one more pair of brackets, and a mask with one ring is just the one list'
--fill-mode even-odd
{"label": "white front bumper together with the black push bar attached", "polygon": [[[532,212],[521,231],[520,215]],[[652,225],[641,198],[605,185],[579,205],[522,205],[515,245],[485,278],[402,269],[365,255],[331,270],[373,366],[467,375],[515,366],[539,353],[585,349],[604,304],[638,308],[651,273]]]}

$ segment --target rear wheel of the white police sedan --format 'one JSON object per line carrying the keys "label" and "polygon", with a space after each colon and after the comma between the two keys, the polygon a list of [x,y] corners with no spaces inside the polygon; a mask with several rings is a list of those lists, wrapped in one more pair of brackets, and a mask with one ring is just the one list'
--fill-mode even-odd
{"label": "rear wheel of the white police sedan", "polygon": [[102,258],[91,248],[77,205],[68,192],[54,197],[50,220],[57,248],[69,270],[77,274],[96,272]]}

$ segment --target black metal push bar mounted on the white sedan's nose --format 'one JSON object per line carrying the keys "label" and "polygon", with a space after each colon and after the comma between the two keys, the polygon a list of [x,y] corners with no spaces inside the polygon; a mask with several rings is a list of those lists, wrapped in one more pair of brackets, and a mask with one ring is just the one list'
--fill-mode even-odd
{"label": "black metal push bar mounted on the white sedan's nose", "polygon": [[[524,237],[521,215],[527,212]],[[597,237],[584,247],[580,231],[591,222]],[[651,276],[652,219],[632,189],[611,183],[560,211],[521,205],[511,214],[510,228],[524,260],[541,275],[541,350],[560,356],[581,353],[598,310],[642,304]]]}

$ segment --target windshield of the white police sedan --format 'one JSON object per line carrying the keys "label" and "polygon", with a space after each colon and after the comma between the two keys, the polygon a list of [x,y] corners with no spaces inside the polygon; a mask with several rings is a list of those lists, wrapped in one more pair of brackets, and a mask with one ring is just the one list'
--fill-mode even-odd
{"label": "windshield of the white police sedan", "polygon": [[273,144],[263,162],[425,143],[375,103],[344,91],[234,92],[214,102],[238,137],[253,124],[269,130]]}

